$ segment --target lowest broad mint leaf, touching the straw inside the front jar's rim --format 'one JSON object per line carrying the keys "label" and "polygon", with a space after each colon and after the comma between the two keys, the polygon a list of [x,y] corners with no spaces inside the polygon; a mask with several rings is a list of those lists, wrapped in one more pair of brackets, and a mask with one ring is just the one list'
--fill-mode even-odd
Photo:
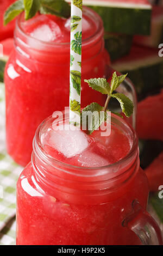
{"label": "lowest broad mint leaf, touching the straw inside the front jar's rim", "polygon": [[83,128],[85,127],[87,129],[89,134],[97,130],[103,121],[106,120],[107,113],[100,114],[101,111],[103,111],[103,107],[96,102],[91,103],[83,109],[81,124]]}

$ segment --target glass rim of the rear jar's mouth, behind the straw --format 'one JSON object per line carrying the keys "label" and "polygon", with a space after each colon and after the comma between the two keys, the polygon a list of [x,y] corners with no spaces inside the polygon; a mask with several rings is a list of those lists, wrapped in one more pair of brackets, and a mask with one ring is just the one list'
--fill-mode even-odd
{"label": "glass rim of the rear jar's mouth, behind the straw", "polygon": [[[102,21],[101,17],[94,10],[92,10],[88,7],[83,7],[83,12],[89,16],[93,16],[93,20],[96,22],[96,25],[97,25],[96,32],[93,35],[91,35],[89,38],[82,40],[82,44],[86,45],[87,42],[94,41],[96,37],[101,38],[101,36],[103,35],[103,32],[104,32],[104,28],[103,28],[103,21]],[[36,39],[31,35],[28,35],[26,32],[23,31],[21,24],[20,24],[23,15],[24,15],[24,12],[21,13],[18,16],[18,18],[16,19],[16,29],[18,29],[18,31],[23,36],[25,36],[25,38],[32,39],[33,41],[36,41],[46,47],[48,47],[48,46],[49,47],[70,46],[70,41],[68,41],[68,42],[46,42],[46,41],[42,41],[40,39]]]}

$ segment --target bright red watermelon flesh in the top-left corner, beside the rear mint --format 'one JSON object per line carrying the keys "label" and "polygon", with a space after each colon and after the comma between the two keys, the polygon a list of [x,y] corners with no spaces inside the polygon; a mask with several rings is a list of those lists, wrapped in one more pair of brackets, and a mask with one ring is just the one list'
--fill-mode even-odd
{"label": "bright red watermelon flesh in the top-left corner, beside the rear mint", "polygon": [[11,21],[7,26],[3,26],[4,11],[15,0],[0,0],[0,41],[13,36],[15,21]]}

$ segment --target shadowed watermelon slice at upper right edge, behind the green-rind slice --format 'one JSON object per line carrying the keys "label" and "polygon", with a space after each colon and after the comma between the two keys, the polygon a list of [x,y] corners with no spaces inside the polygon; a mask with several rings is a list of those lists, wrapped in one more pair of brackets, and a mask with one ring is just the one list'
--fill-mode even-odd
{"label": "shadowed watermelon slice at upper right edge, behind the green-rind slice", "polygon": [[162,43],[163,38],[163,7],[152,7],[152,29],[149,36],[134,36],[134,42],[140,45],[158,47]]}

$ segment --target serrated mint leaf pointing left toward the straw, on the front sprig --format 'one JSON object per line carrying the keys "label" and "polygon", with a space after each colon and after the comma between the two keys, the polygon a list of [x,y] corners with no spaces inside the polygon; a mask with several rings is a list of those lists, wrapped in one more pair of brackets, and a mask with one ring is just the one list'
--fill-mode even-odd
{"label": "serrated mint leaf pointing left toward the straw, on the front sprig", "polygon": [[110,86],[105,78],[91,78],[84,80],[93,90],[97,90],[102,94],[110,94]]}

